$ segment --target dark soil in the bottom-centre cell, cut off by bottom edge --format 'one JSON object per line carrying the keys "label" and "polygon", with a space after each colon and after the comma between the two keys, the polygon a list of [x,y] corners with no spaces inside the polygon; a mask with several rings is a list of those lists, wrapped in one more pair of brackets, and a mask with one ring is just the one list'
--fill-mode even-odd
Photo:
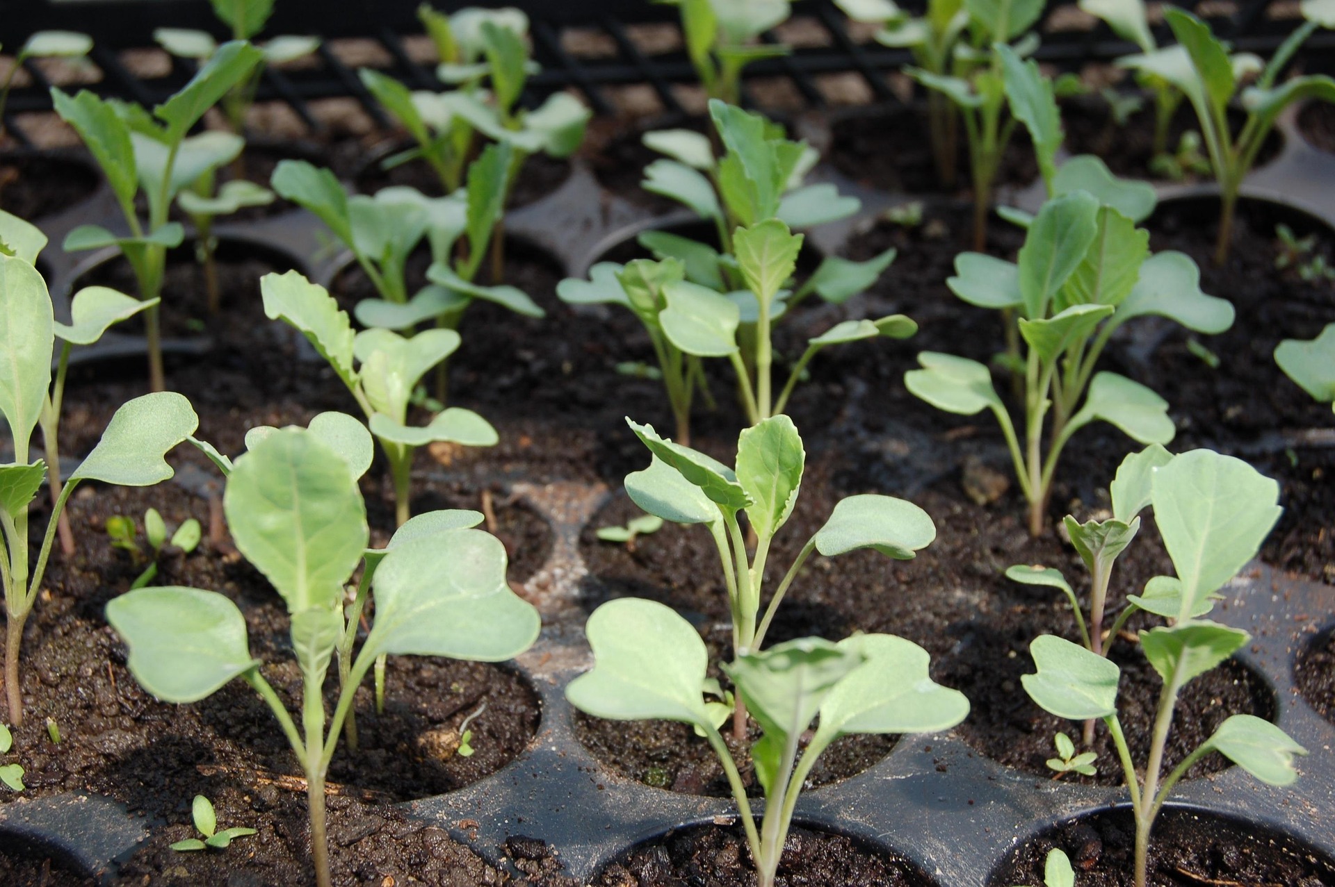
{"label": "dark soil in the bottom-centre cell, cut off by bottom edge", "polygon": [[[670,831],[639,844],[607,866],[598,887],[752,887],[756,868],[740,824]],[[850,838],[794,827],[784,843],[780,884],[805,887],[928,887],[932,880],[894,854],[869,850]]]}

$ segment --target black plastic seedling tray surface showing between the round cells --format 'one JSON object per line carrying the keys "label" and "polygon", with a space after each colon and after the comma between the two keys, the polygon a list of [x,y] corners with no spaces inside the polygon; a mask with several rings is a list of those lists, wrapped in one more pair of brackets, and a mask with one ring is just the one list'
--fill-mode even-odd
{"label": "black plastic seedling tray surface showing between the round cells", "polygon": [[[1259,169],[1244,195],[1287,203],[1335,227],[1335,157],[1308,147],[1290,113],[1282,120],[1286,147]],[[908,197],[873,192],[821,168],[817,177],[840,184],[864,201],[858,219],[813,232],[825,252],[836,252],[858,223]],[[1193,196],[1210,188],[1161,188],[1164,199]],[[1032,205],[1041,195],[1020,189],[1001,199]],[[672,221],[599,188],[575,164],[570,179],[537,204],[507,216],[510,235],[555,256],[566,273],[582,276],[610,245],[635,231]],[[47,219],[55,244],[75,224],[101,221],[115,227],[108,195]],[[347,264],[346,255],[327,255],[320,225],[296,211],[244,225],[219,225],[222,237],[236,237],[290,255],[294,267],[328,283]],[[65,313],[71,284],[104,256],[69,256],[47,251],[48,279]],[[207,349],[207,341],[175,343]],[[79,360],[103,360],[142,351],[128,336],[76,352]],[[1283,448],[1283,441],[1276,441]],[[186,472],[183,472],[184,475]],[[184,478],[182,478],[184,480]],[[410,802],[403,808],[447,830],[493,863],[509,838],[549,843],[566,874],[591,879],[621,852],[673,828],[732,823],[732,800],[673,794],[618,776],[578,742],[565,684],[591,664],[583,638],[585,610],[579,580],[587,572],[579,535],[613,495],[606,486],[559,482],[534,484],[498,478],[510,492],[542,514],[554,531],[551,556],[527,583],[527,595],[543,614],[537,646],[515,663],[542,702],[542,723],[529,750],[501,771],[467,788]],[[1335,726],[1298,694],[1294,666],[1304,643],[1320,636],[1331,620],[1331,591],[1254,564],[1223,590],[1216,616],[1250,631],[1252,643],[1239,654],[1262,674],[1276,700],[1278,723],[1311,751],[1298,760],[1300,778],[1287,788],[1264,786],[1240,768],[1180,786],[1173,804],[1238,819],[1274,831],[1328,858],[1335,858]],[[1024,774],[981,756],[952,734],[902,739],[872,768],[841,783],[808,791],[797,807],[801,824],[850,836],[870,847],[902,855],[940,884],[984,887],[991,872],[1019,843],[1073,818],[1125,802],[1124,788],[1083,787]],[[131,818],[101,798],[75,795],[19,799],[0,806],[0,840],[7,846],[57,851],[73,867],[107,874],[128,858],[155,823]]]}

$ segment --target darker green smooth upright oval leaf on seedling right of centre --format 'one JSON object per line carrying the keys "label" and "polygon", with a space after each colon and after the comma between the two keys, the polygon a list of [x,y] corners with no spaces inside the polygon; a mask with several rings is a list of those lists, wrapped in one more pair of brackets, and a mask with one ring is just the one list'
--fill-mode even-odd
{"label": "darker green smooth upright oval leaf on seedling right of centre", "polygon": [[1052,297],[1084,260],[1097,233],[1099,201],[1083,191],[1043,204],[1020,248],[1024,316],[1045,317]]}

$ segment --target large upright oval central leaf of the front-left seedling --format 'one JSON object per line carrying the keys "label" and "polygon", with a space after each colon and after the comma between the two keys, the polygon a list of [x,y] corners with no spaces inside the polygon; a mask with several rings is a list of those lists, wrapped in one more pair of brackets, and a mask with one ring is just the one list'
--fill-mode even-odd
{"label": "large upright oval central leaf of the front-left seedling", "polygon": [[366,506],[351,468],[302,428],[275,431],[236,459],[223,510],[236,547],[291,614],[331,608],[366,550]]}

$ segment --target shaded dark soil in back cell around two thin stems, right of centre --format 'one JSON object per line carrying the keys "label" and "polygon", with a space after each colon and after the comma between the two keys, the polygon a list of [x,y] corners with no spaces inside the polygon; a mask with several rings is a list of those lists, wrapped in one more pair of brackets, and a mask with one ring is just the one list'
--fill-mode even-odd
{"label": "shaded dark soil in back cell around two thin stems, right of centre", "polygon": [[[858,111],[830,127],[829,161],[845,176],[896,193],[943,193],[928,135],[926,105],[877,107]],[[1039,176],[1028,135],[1017,127],[1001,155],[995,187],[1024,187]],[[957,192],[973,187],[969,151],[960,124],[956,155]]]}

